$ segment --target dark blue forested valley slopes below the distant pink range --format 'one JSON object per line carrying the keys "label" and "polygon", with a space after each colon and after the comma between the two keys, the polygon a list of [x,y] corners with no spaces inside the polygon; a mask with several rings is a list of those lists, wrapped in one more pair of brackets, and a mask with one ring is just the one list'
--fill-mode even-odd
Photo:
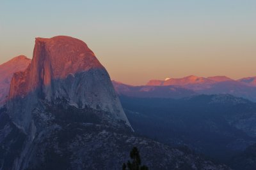
{"label": "dark blue forested valley slopes below the distant pink range", "polygon": [[134,131],[170,145],[189,146],[221,162],[230,163],[256,143],[256,103],[243,98],[220,94],[120,100]]}

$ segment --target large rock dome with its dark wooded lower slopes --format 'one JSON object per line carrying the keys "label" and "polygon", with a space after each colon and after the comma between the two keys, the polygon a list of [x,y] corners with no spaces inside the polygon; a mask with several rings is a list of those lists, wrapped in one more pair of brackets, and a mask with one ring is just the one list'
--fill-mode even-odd
{"label": "large rock dome with its dark wooded lower slopes", "polygon": [[121,169],[137,146],[150,169],[228,169],[136,136],[108,72],[79,39],[36,38],[0,110],[0,169]]}

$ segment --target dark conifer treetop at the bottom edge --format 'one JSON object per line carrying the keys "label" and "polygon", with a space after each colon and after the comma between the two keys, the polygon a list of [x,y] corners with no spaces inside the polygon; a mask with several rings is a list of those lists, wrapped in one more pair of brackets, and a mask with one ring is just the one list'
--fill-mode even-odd
{"label": "dark conifer treetop at the bottom edge", "polygon": [[138,151],[138,148],[133,147],[130,152],[131,161],[128,160],[127,164],[123,164],[122,169],[127,170],[148,170],[147,166],[141,166],[141,159],[140,159],[140,153]]}

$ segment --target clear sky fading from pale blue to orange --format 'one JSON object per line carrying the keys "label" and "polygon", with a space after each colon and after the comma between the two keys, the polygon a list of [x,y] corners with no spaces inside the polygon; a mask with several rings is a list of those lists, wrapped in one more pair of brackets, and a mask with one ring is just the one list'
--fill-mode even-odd
{"label": "clear sky fading from pale blue to orange", "polygon": [[256,76],[256,1],[0,1],[0,63],[36,37],[83,40],[111,79]]}

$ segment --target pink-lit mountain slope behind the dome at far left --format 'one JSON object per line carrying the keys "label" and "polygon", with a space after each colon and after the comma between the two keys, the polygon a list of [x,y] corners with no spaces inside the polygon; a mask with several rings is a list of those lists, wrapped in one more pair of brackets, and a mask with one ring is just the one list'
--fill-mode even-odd
{"label": "pink-lit mountain slope behind the dome at far left", "polygon": [[4,104],[6,96],[8,96],[13,73],[24,71],[30,63],[31,59],[24,55],[19,55],[0,65],[0,106]]}

